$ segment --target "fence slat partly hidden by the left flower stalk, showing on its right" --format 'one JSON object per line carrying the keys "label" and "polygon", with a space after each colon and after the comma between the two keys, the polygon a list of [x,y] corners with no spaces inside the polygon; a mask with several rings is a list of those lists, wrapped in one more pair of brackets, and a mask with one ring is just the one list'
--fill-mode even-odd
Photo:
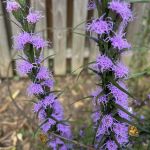
{"label": "fence slat partly hidden by the left flower stalk, showing on its right", "polygon": [[[47,19],[46,19],[46,0],[31,0],[31,8],[41,11],[44,16],[37,24],[35,31],[38,32],[44,39],[47,39]],[[49,55],[48,49],[45,48],[44,57]],[[48,59],[44,61],[44,65],[48,67]]]}

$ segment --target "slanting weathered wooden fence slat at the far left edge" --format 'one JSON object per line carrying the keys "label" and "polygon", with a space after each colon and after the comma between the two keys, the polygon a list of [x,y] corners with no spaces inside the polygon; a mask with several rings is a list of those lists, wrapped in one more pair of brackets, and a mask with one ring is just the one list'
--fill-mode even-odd
{"label": "slanting weathered wooden fence slat at the far left edge", "polygon": [[[0,2],[0,76],[7,77],[8,66],[11,61],[10,53],[9,53],[9,46],[8,46],[8,39],[7,39],[7,32],[5,28],[5,22],[3,18],[3,11],[2,11],[2,1]],[[9,68],[9,77],[12,76],[12,68]]]}

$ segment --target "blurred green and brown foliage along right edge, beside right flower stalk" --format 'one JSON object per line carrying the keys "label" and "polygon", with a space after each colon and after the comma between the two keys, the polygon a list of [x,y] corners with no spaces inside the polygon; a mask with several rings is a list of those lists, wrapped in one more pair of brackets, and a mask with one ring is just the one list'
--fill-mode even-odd
{"label": "blurred green and brown foliage along right edge, beside right flower stalk", "polygon": [[[134,78],[128,80],[130,92],[137,97],[131,103],[131,107],[141,121],[143,126],[150,131],[150,4],[144,9],[141,22],[141,30],[135,35],[133,54],[129,67]],[[138,76],[138,74],[141,74]],[[141,122],[140,122],[141,123]],[[150,134],[139,133],[138,137],[132,138],[132,150],[150,150]]]}

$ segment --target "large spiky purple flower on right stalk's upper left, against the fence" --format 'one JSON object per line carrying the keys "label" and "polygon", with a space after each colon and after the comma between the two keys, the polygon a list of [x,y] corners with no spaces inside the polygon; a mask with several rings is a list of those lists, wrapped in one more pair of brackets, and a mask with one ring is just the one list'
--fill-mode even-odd
{"label": "large spiky purple flower on right stalk's upper left, against the fence", "polygon": [[108,34],[113,28],[113,23],[111,21],[106,21],[103,19],[103,16],[92,20],[91,23],[86,25],[86,30],[90,32],[95,32],[99,35],[104,33]]}

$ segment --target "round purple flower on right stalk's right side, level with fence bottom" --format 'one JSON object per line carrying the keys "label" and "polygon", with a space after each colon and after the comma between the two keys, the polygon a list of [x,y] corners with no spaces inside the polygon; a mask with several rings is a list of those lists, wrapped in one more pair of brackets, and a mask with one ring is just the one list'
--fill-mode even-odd
{"label": "round purple flower on right stalk's right side, level with fence bottom", "polygon": [[129,69],[121,62],[118,62],[116,65],[114,65],[112,70],[114,71],[116,78],[127,77],[129,73]]}

